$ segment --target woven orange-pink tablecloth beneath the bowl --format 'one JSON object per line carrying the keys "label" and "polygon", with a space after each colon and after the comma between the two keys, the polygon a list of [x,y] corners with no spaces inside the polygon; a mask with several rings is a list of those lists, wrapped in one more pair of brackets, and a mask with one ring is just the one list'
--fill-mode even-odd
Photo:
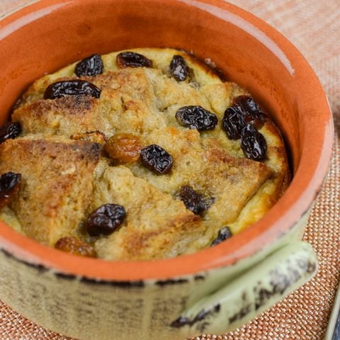
{"label": "woven orange-pink tablecloth beneath the bowl", "polygon": [[[0,0],[0,15],[28,2]],[[317,276],[275,307],[224,336],[198,339],[321,340],[340,274],[340,0],[231,0],[285,34],[312,64],[334,113],[331,169],[304,239],[319,257]],[[69,340],[42,329],[0,302],[0,340]],[[179,340],[179,339],[174,339]]]}

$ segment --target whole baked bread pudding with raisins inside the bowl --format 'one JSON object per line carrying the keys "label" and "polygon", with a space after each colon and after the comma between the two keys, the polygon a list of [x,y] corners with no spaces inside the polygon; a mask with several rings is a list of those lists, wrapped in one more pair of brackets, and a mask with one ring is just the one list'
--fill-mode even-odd
{"label": "whole baked bread pudding with raisins inside the bowl", "polygon": [[108,260],[219,244],[289,181],[280,132],[254,98],[171,49],[93,55],[38,79],[0,142],[1,220]]}

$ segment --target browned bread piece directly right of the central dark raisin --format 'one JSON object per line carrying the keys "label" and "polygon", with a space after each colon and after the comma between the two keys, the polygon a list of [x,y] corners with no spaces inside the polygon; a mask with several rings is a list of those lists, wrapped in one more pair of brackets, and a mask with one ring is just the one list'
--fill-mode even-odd
{"label": "browned bread piece directly right of the central dark raisin", "polygon": [[160,145],[171,154],[174,159],[171,174],[153,174],[139,163],[128,165],[132,173],[173,196],[181,186],[191,186],[212,197],[215,203],[203,218],[210,239],[220,227],[236,219],[272,173],[266,164],[230,157],[218,140],[202,139],[197,130],[172,127],[154,130],[145,138],[145,145],[151,144]]}

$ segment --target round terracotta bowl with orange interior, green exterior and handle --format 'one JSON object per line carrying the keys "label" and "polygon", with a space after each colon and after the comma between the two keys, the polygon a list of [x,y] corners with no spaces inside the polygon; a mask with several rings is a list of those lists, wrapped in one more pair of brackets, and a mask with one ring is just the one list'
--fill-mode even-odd
{"label": "round terracotta bowl with orange interior, green exterior and handle", "polygon": [[331,155],[327,98],[298,50],[222,0],[41,0],[0,22],[1,122],[45,73],[93,53],[177,47],[210,58],[272,113],[293,181],[262,220],[219,246],[162,261],[103,261],[42,246],[0,223],[0,297],[79,339],[180,339],[238,327],[310,279],[299,241]]}

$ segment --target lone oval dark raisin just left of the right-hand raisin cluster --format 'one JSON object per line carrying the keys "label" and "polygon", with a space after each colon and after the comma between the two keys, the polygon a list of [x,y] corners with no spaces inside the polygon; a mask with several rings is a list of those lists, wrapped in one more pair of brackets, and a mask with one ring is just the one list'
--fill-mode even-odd
{"label": "lone oval dark raisin just left of the right-hand raisin cluster", "polygon": [[176,112],[175,117],[182,126],[198,131],[212,130],[218,121],[214,113],[202,106],[183,106]]}

